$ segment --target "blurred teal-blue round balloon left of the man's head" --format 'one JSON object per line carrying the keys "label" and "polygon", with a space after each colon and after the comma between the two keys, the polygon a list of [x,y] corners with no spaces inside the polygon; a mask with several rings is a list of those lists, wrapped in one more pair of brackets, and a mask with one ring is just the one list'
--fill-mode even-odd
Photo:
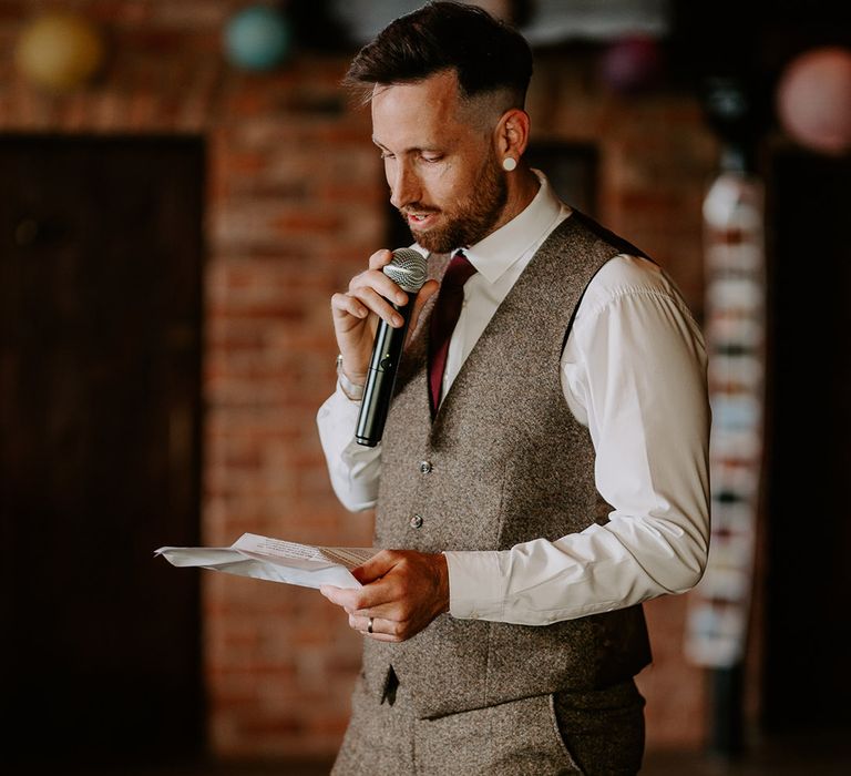
{"label": "blurred teal-blue round balloon left of the man's head", "polygon": [[225,29],[227,58],[245,70],[270,70],[283,62],[291,32],[280,11],[268,6],[249,6],[236,13]]}

